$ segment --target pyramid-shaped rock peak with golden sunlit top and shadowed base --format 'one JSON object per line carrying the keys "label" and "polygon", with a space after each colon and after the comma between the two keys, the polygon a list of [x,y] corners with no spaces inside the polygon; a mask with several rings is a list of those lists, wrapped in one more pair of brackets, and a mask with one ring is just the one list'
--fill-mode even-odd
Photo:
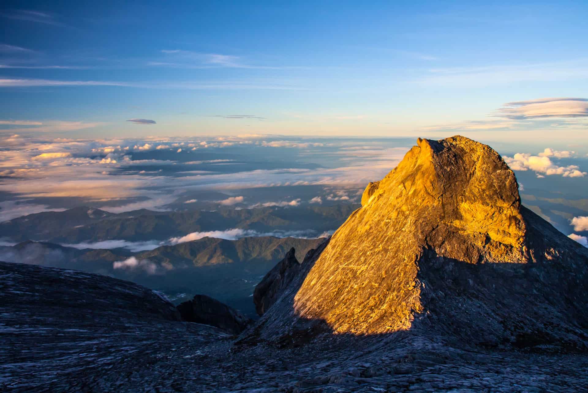
{"label": "pyramid-shaped rock peak with golden sunlit top and shadowed base", "polygon": [[588,250],[522,207],[499,154],[465,137],[419,139],[304,265],[260,320],[268,337],[298,318],[338,333],[585,346]]}

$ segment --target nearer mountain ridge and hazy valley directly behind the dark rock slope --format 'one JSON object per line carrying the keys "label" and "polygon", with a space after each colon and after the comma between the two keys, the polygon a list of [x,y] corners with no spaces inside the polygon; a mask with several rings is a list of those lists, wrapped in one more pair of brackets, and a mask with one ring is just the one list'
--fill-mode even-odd
{"label": "nearer mountain ridge and hazy valley directly behind the dark rock slope", "polygon": [[[66,213],[65,211],[63,213]],[[100,213],[98,213],[100,214]],[[125,248],[79,250],[24,241],[0,247],[0,260],[99,273],[145,285],[181,303],[195,294],[217,298],[255,317],[253,287],[290,250],[302,260],[325,239],[244,237],[203,239],[131,253]]]}

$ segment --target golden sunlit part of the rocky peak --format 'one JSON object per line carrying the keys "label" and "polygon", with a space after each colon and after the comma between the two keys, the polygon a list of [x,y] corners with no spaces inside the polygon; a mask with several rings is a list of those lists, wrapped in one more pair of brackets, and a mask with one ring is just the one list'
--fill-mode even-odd
{"label": "golden sunlit part of the rocky peak", "polygon": [[425,309],[419,260],[527,263],[515,174],[489,146],[462,136],[419,139],[370,183],[294,298],[299,317],[335,332],[406,330]]}

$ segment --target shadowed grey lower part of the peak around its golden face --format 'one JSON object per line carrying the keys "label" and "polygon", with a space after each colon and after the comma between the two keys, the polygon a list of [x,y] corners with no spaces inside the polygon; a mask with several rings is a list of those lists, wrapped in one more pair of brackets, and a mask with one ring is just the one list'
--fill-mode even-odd
{"label": "shadowed grey lower part of the peak around its golden face", "polygon": [[[470,350],[586,352],[588,313],[583,298],[588,291],[587,253],[532,211],[523,207],[522,212],[529,227],[527,246],[534,253],[533,263],[470,263],[425,248],[416,262],[415,288],[406,288],[406,293],[412,291],[418,297],[422,307],[410,309],[407,315],[396,315],[404,310],[392,308],[385,316],[390,320],[406,318],[407,328],[383,334],[338,332],[322,318],[300,315],[296,295],[328,246],[330,239],[326,240],[309,251],[298,276],[265,310],[255,327],[241,335],[235,349],[260,343],[298,348],[310,342],[320,345],[320,341],[328,342],[327,347],[337,342],[344,348],[410,338]],[[545,236],[553,237],[546,241]],[[560,263],[554,257],[576,260]],[[282,273],[280,278],[286,275]],[[402,298],[405,293],[397,295]],[[356,311],[349,310],[349,314]]]}

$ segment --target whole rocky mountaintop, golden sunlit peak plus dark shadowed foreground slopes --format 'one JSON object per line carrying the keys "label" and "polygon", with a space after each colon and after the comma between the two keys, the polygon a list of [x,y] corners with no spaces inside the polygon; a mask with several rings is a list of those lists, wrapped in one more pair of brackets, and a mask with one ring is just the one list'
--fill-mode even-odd
{"label": "whole rocky mountaintop, golden sunlit peak plus dark shadowed foreground slopes", "polygon": [[[125,317],[122,327],[112,322],[121,310],[109,315],[106,325],[97,321],[95,330],[84,318],[79,323],[83,333],[72,332],[78,322],[71,315],[77,314],[68,314],[68,307],[81,306],[69,301],[64,303],[64,315],[69,315],[63,317],[64,335],[49,339],[36,319],[41,311],[26,307],[23,315],[16,295],[26,293],[28,304],[34,303],[35,293],[48,296],[48,285],[42,292],[36,290],[38,283],[27,288],[19,279],[26,277],[19,264],[1,267],[3,291],[9,295],[0,311],[18,318],[11,317],[0,332],[11,340],[6,342],[31,336],[18,344],[18,364],[42,363],[46,370],[45,379],[25,378],[16,362],[3,357],[0,387],[588,389],[588,249],[522,206],[515,174],[499,154],[461,136],[419,139],[392,172],[366,187],[362,206],[330,239],[302,261],[291,249],[255,288],[252,301],[261,317],[239,336],[234,335],[238,330],[174,321],[175,313],[163,318],[153,311],[136,323]],[[68,272],[45,274],[59,288],[54,298],[76,296],[75,274]],[[80,279],[103,284],[98,300],[117,304],[119,297],[130,297],[133,313],[169,311],[169,304],[151,292],[133,287],[123,295],[120,282],[93,276]],[[17,290],[6,291],[7,285]],[[127,307],[129,300],[120,304]],[[83,307],[94,304],[84,298]],[[207,318],[214,320],[208,310],[217,308],[223,307],[206,308]],[[20,325],[21,317],[31,323]],[[51,329],[58,329],[59,318],[51,319]],[[117,329],[142,333],[121,336],[126,345],[115,340]],[[93,336],[116,345],[96,349]],[[48,348],[45,357],[32,350],[39,342]],[[51,355],[52,342],[68,351],[67,367],[47,361],[57,358]],[[127,347],[131,350],[121,350]],[[74,367],[76,353],[91,354],[92,364]]]}

